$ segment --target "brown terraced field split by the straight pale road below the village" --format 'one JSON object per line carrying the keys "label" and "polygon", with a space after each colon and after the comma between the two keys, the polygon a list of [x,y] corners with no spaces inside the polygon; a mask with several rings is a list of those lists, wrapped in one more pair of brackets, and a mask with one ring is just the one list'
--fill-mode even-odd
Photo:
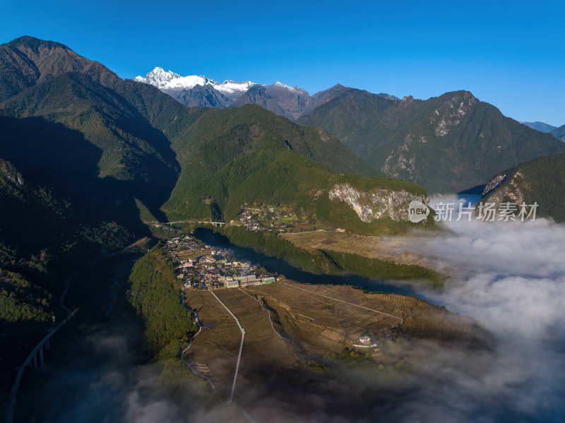
{"label": "brown terraced field split by the straight pale road below the village", "polygon": [[[215,294],[246,331],[234,394],[234,399],[238,399],[254,383],[276,376],[280,368],[292,366],[297,357],[292,353],[290,343],[273,330],[268,311],[254,297],[239,289],[217,290]],[[227,396],[242,334],[234,318],[210,292],[191,292],[186,303],[196,310],[203,325],[186,358],[196,371],[199,371],[198,366],[204,371],[209,369],[209,372],[201,374],[214,383],[218,382],[216,388]]]}

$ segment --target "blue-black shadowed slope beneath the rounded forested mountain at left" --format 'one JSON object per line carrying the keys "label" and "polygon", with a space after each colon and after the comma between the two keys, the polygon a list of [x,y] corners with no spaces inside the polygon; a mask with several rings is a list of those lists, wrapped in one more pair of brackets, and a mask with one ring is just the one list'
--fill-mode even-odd
{"label": "blue-black shadowed slope beneath the rounded forested mountain at left", "polygon": [[[73,205],[73,214],[83,225],[115,221],[131,232],[144,233],[136,220],[138,186],[134,181],[100,178],[102,150],[80,131],[40,117],[0,117],[0,128],[0,157],[13,163],[31,186],[48,189],[60,201]],[[16,221],[16,227],[27,226]],[[37,242],[52,242],[40,234],[37,232]]]}

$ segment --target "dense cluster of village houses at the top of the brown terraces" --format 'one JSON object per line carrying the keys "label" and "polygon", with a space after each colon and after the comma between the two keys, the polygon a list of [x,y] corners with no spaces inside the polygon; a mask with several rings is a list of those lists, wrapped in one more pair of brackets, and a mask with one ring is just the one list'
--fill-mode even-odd
{"label": "dense cluster of village houses at the top of the brown terraces", "polygon": [[265,268],[237,260],[231,250],[203,244],[190,235],[170,239],[166,251],[184,290],[217,290],[277,281]]}

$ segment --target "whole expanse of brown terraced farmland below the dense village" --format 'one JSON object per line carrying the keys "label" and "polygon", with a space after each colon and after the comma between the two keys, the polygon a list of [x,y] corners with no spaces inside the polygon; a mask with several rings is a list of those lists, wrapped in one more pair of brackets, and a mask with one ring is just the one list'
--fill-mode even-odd
{"label": "whole expanse of brown terraced farmland below the dense village", "polygon": [[[438,306],[396,294],[367,294],[344,285],[292,281],[246,289],[215,290],[245,330],[234,400],[252,403],[254,386],[279,380],[308,355],[331,355],[353,347],[359,336],[400,328],[439,340],[472,340],[472,321]],[[185,359],[229,397],[242,333],[233,316],[211,292],[193,291],[186,305],[196,310],[201,332]]]}

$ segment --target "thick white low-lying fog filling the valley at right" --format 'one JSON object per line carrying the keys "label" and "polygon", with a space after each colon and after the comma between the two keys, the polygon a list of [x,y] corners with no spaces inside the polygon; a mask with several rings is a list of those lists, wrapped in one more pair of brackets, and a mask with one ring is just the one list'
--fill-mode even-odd
{"label": "thick white low-lying fog filling the valley at right", "polygon": [[[444,199],[445,200],[445,199]],[[432,201],[433,204],[433,201]],[[417,237],[409,250],[446,264],[454,275],[426,297],[475,318],[494,336],[492,352],[451,366],[442,350],[441,383],[401,407],[410,421],[561,422],[565,419],[565,225],[534,222],[446,222],[448,233]],[[494,364],[494,365],[493,365]],[[488,366],[487,374],[481,367]]]}

